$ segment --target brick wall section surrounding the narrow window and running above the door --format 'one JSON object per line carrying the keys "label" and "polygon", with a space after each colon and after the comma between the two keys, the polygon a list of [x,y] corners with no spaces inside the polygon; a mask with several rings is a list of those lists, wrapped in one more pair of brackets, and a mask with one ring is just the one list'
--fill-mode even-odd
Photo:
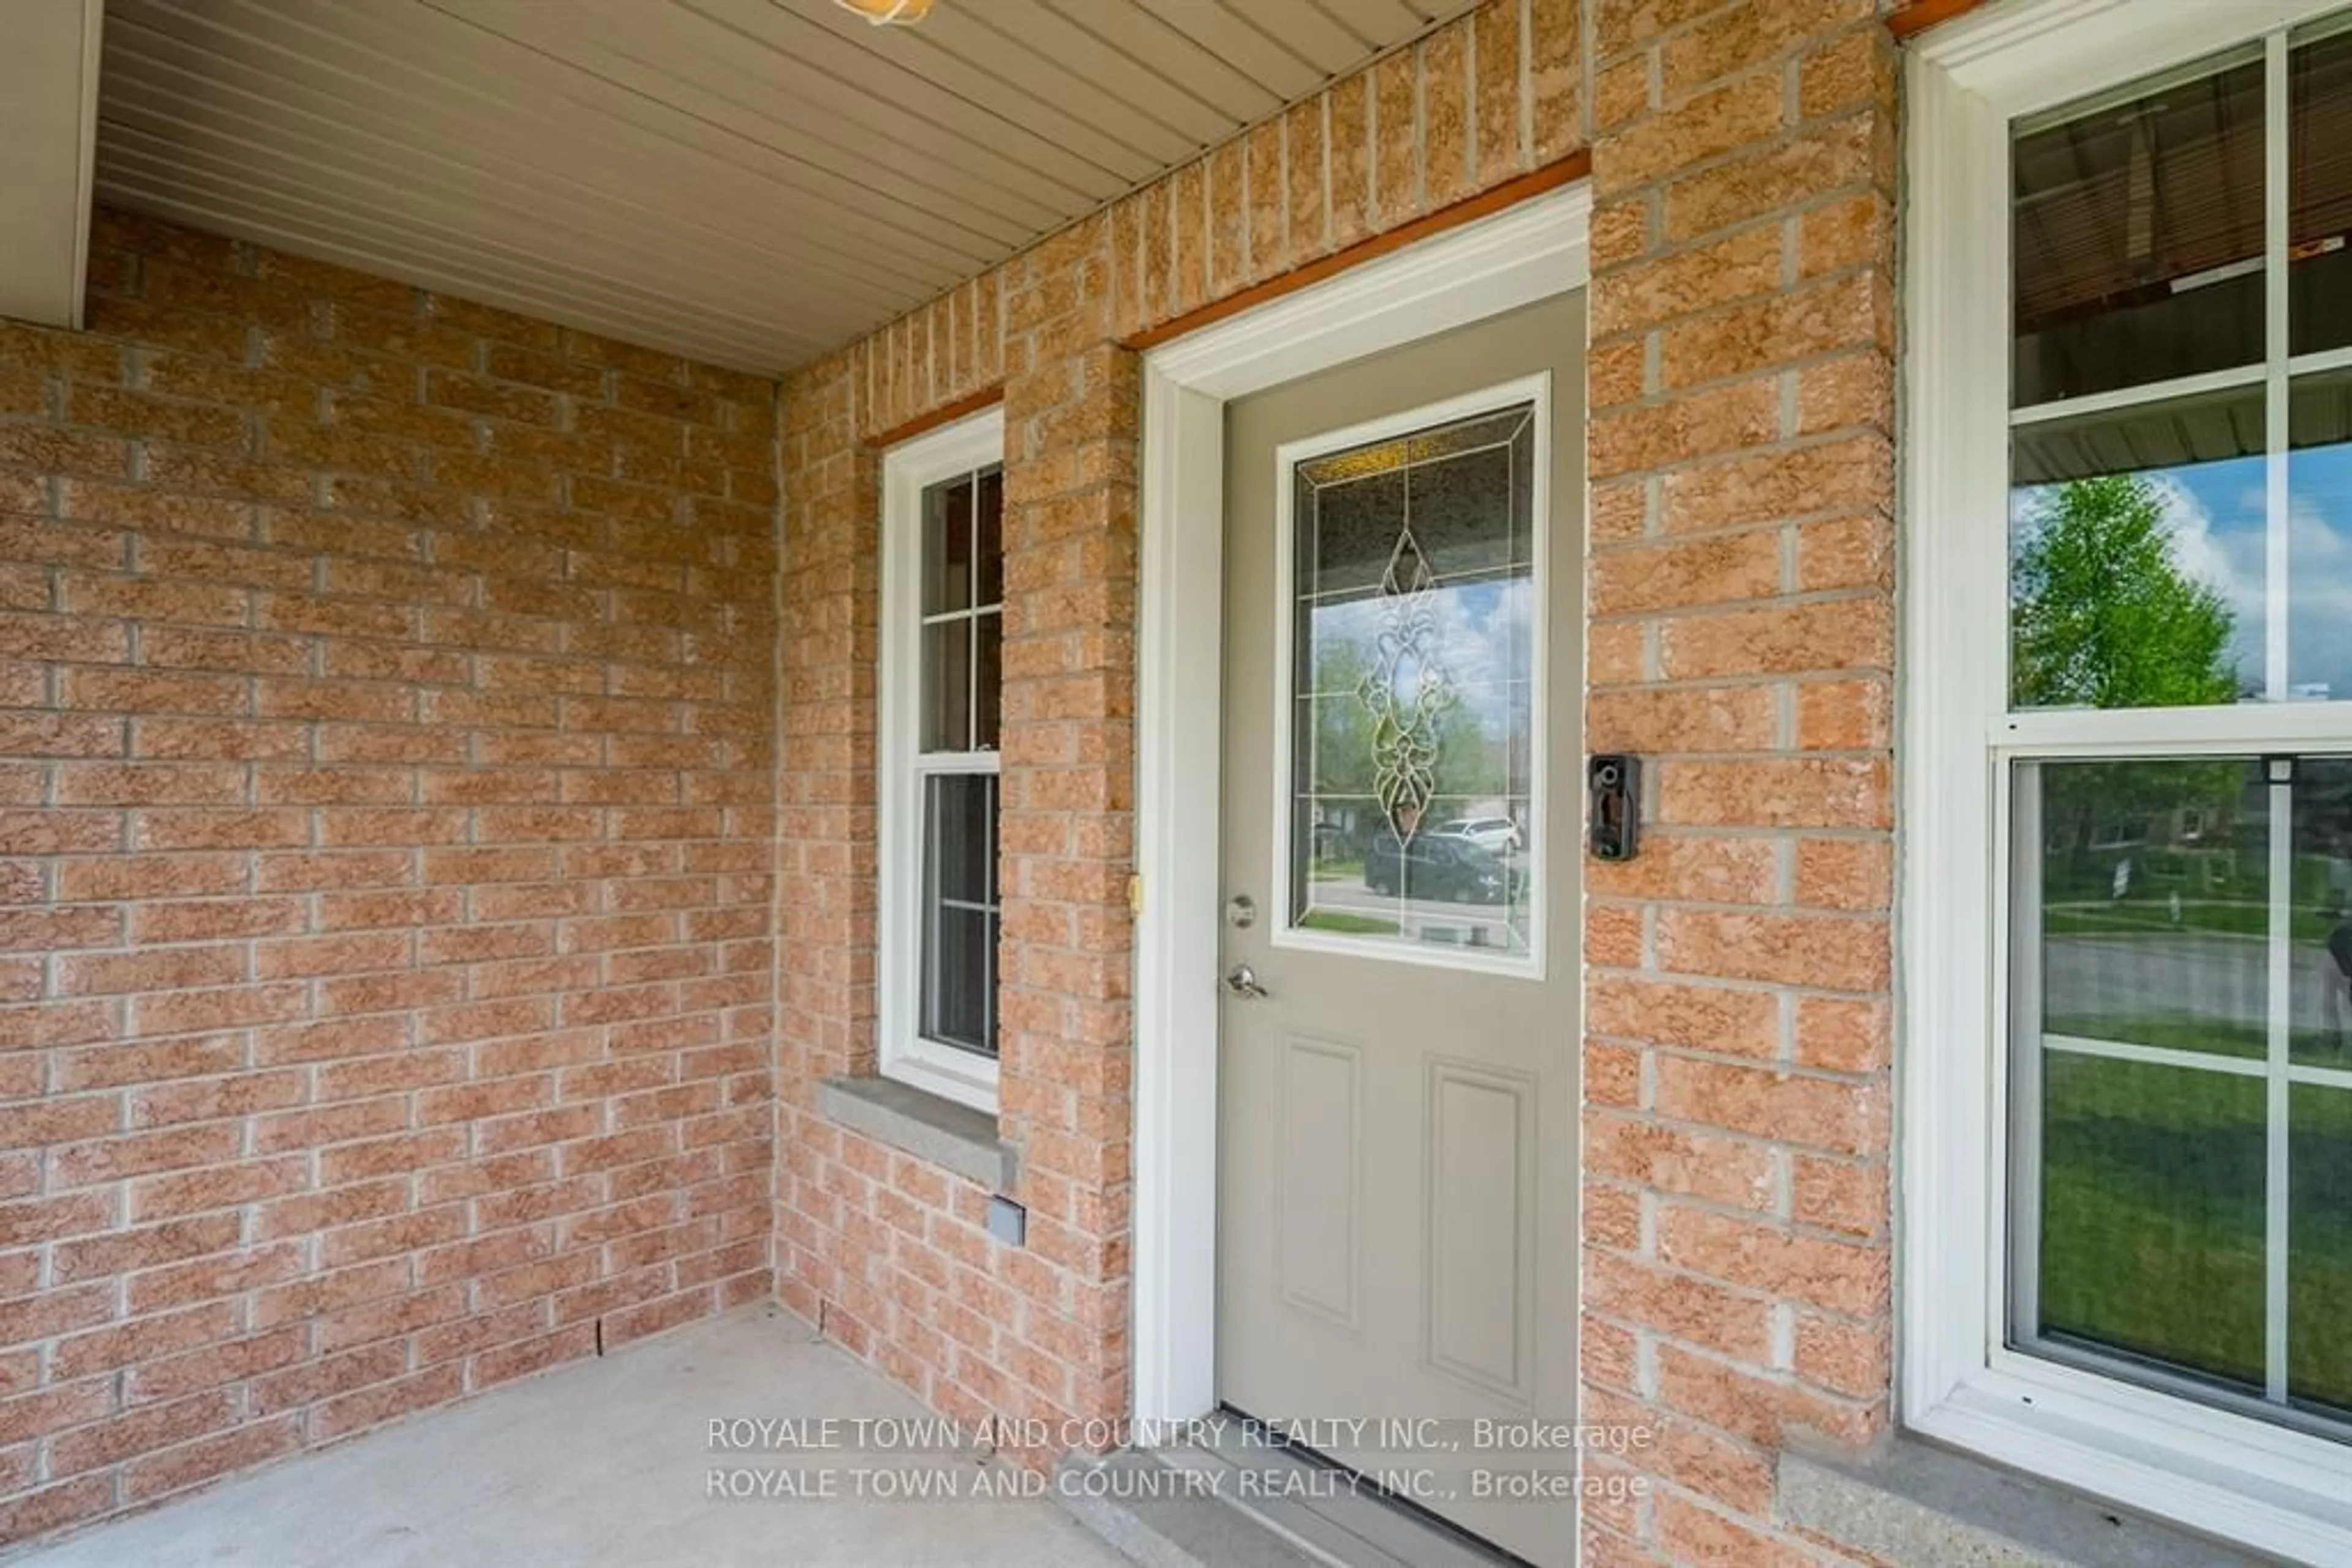
{"label": "brick wall section surrounding the narrow window and running above the door", "polygon": [[[786,383],[779,1293],[955,1415],[1129,1394],[1136,367],[1120,343],[1583,146],[1573,0],[1491,0]],[[877,456],[1002,388],[1002,1131],[985,1194],[811,1110],[875,1060]],[[1033,1455],[1049,1458],[1049,1455]]]}

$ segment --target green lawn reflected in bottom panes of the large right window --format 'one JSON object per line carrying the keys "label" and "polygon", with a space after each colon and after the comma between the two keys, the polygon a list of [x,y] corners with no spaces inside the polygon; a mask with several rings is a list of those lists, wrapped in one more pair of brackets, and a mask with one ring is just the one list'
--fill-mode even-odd
{"label": "green lawn reflected in bottom panes of the large right window", "polygon": [[[2260,1387],[2265,1093],[2256,1077],[2049,1058],[2044,1331]],[[2352,1093],[2298,1088],[2288,1157],[2291,1389],[2352,1408]]]}

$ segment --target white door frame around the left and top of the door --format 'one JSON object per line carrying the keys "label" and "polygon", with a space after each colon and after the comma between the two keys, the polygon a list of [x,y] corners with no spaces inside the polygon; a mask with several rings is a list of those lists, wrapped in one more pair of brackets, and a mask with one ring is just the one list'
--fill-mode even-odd
{"label": "white door frame around the left and top of the door", "polygon": [[[1581,289],[1590,216],[1592,190],[1581,181],[1143,360],[1134,1074],[1134,1418],[1143,1432],[1216,1408],[1225,402]],[[1583,571],[1583,559],[1557,569]]]}

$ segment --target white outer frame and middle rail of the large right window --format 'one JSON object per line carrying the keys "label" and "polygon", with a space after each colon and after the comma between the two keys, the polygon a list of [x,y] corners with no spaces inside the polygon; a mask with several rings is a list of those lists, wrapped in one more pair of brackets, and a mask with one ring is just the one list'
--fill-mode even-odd
{"label": "white outer frame and middle rail of the large right window", "polygon": [[[1900,1420],[2194,1530],[2352,1561],[2352,1448],[2004,1347],[2004,750],[2352,741],[2343,703],[2009,715],[2009,120],[2343,0],[2018,0],[1907,61]],[[1983,520],[1976,527],[1962,527]]]}

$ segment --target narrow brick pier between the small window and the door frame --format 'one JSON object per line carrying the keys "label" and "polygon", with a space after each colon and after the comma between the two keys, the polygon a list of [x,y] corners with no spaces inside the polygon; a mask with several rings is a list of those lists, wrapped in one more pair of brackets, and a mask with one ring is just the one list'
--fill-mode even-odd
{"label": "narrow brick pier between the small window and the door frame", "polygon": [[[1082,1418],[1127,1410],[1136,357],[1110,341],[1105,214],[1007,292],[1002,1121],[1023,1291],[1000,1359]],[[1004,1408],[1004,1406],[1000,1406]]]}

